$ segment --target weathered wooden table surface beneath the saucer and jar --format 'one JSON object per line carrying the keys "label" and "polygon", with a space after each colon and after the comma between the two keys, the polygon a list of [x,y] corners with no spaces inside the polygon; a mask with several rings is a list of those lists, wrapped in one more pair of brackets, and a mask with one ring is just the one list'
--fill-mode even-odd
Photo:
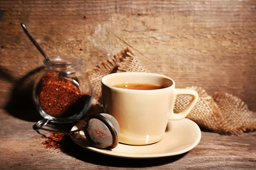
{"label": "weathered wooden table surface beneath the saucer and jar", "polygon": [[256,132],[223,136],[202,131],[191,151],[157,159],[124,159],[93,153],[67,139],[65,153],[46,149],[33,130],[41,119],[30,110],[0,109],[0,169],[255,169]]}

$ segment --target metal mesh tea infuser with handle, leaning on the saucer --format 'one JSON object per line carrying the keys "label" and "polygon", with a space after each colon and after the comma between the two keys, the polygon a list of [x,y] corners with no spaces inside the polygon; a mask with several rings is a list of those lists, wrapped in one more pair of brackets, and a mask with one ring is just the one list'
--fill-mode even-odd
{"label": "metal mesh tea infuser with handle, leaning on the saucer", "polygon": [[78,119],[42,119],[38,121],[35,126],[38,129],[47,130],[51,132],[64,133],[71,135],[78,131],[84,130],[84,135],[88,142],[96,148],[115,148],[118,144],[118,137],[120,133],[120,127],[116,119],[107,113],[88,113],[86,118],[86,125],[73,131],[62,131],[62,130],[52,130],[44,128],[49,122],[58,121],[78,121]]}

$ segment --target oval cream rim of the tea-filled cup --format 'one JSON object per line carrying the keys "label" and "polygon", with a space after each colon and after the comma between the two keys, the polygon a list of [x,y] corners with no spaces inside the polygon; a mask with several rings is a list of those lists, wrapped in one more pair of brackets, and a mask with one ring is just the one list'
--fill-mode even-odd
{"label": "oval cream rim of the tea-filled cup", "polygon": [[[127,75],[127,74],[148,74],[148,75],[154,75],[154,76],[158,76],[158,77],[162,77],[162,78],[166,78],[166,79],[169,79],[172,81],[172,85],[170,85],[169,87],[166,87],[166,88],[160,88],[160,89],[154,89],[154,90],[135,90],[135,89],[124,89],[124,88],[117,88],[117,87],[113,87],[112,85],[108,85],[106,83],[106,80],[108,77],[111,77],[113,76],[114,74],[124,74],[124,75]],[[170,77],[168,76],[165,76],[163,74],[157,74],[157,73],[147,73],[147,72],[121,72],[121,73],[111,73],[111,74],[108,74],[104,77],[102,77],[101,79],[101,83],[104,84],[105,86],[107,86],[108,88],[111,88],[111,89],[114,89],[114,90],[118,90],[118,91],[161,91],[161,90],[165,90],[167,88],[172,88],[173,86],[175,87],[175,81],[173,79],[171,79]]]}

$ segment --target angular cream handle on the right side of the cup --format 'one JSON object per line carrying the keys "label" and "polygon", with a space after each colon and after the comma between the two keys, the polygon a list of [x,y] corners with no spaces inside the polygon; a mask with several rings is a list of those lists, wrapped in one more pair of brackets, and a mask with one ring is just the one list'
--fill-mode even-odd
{"label": "angular cream handle on the right side of the cup", "polygon": [[[174,105],[175,101],[178,95],[189,95],[192,96],[192,100],[189,102],[189,105],[181,111],[180,113],[174,113]],[[186,88],[175,88],[174,94],[173,94],[173,102],[170,108],[170,112],[168,114],[169,120],[180,120],[185,118],[189,112],[194,108],[196,102],[198,101],[198,93],[192,89],[186,89]]]}

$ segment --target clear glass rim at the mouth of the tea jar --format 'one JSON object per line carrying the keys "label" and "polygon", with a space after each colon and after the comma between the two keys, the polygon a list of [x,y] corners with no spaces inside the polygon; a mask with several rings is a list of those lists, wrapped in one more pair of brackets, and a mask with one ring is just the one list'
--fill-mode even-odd
{"label": "clear glass rim at the mouth of the tea jar", "polygon": [[49,57],[50,61],[44,60],[47,68],[73,68],[83,65],[82,59],[78,57]]}

